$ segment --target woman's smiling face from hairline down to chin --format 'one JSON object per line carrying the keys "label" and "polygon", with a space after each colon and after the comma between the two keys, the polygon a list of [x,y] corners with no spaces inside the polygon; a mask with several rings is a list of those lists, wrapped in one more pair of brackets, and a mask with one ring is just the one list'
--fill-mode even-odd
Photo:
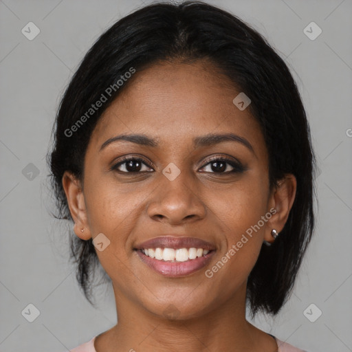
{"label": "woman's smiling face from hairline down to chin", "polygon": [[[96,252],[118,309],[128,301],[182,319],[230,299],[244,302],[261,245],[271,241],[277,214],[270,209],[277,203],[259,124],[249,109],[232,102],[240,91],[226,79],[201,63],[164,63],[137,72],[91,135],[76,216],[85,232],[76,234],[99,234]],[[204,138],[230,133],[232,139]],[[119,135],[144,140],[106,143]],[[123,157],[138,159],[118,165]],[[176,241],[141,245],[160,236]],[[210,247],[177,242],[185,236]],[[136,250],[157,246],[159,259]],[[212,251],[187,260],[182,256],[197,252],[173,252],[179,247]],[[176,262],[160,260],[176,252]]]}

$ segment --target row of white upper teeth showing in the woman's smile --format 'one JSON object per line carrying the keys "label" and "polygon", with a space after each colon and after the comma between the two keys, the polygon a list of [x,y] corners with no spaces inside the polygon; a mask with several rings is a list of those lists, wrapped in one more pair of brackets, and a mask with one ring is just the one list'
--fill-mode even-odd
{"label": "row of white upper teeth showing in the woman's smile", "polygon": [[190,259],[196,259],[201,256],[205,256],[210,251],[203,250],[203,248],[148,248],[142,250],[146,256],[155,258],[158,261],[188,261]]}

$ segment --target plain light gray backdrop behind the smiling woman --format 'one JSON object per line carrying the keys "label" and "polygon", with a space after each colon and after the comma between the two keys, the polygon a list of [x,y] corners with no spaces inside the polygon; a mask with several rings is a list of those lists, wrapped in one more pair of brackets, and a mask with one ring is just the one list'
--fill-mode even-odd
{"label": "plain light gray backdrop behind the smiling woman", "polygon": [[[352,1],[209,2],[248,21],[285,58],[321,170],[316,233],[294,294],[275,320],[260,316],[255,324],[310,352],[352,351]],[[61,94],[84,53],[140,5],[0,1],[0,351],[65,351],[115,324],[111,288],[96,291],[99,309],[78,290],[65,227],[48,214],[45,153]],[[32,41],[21,33],[30,21],[41,30]],[[314,41],[303,32],[311,21],[322,29]],[[30,163],[39,175],[29,173]],[[29,303],[40,311],[34,322],[21,315]],[[311,303],[322,311],[315,322],[303,314]]]}

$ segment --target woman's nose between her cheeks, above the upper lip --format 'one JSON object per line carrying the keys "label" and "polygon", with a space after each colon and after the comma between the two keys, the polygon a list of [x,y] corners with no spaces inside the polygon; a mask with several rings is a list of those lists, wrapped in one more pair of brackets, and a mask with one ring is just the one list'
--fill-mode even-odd
{"label": "woman's nose between her cheeks, above the upper lip", "polygon": [[206,216],[206,205],[201,200],[195,181],[181,172],[173,181],[164,175],[148,202],[148,216],[170,225],[198,221]]}

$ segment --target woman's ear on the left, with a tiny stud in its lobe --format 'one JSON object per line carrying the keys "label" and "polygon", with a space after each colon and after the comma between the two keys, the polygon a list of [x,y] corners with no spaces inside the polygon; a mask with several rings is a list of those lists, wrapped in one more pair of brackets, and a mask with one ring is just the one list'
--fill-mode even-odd
{"label": "woman's ear on the left, with a tiny stud in its lobe", "polygon": [[[69,211],[74,219],[74,232],[80,239],[88,240],[91,238],[91,233],[87,221],[85,196],[80,181],[69,171],[65,171],[62,181]],[[81,231],[82,229],[84,232]]]}

